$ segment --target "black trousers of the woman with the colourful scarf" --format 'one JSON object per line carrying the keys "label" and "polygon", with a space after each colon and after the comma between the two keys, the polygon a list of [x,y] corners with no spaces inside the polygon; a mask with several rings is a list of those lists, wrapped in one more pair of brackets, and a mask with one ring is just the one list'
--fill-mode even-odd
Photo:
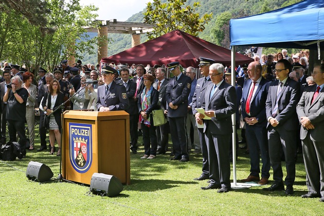
{"label": "black trousers of the woman with the colourful scarf", "polygon": [[143,135],[145,154],[155,156],[156,149],[157,149],[157,141],[156,141],[156,133],[155,133],[156,127],[152,124],[150,125],[150,127],[148,127],[144,123],[141,123],[141,126],[142,126],[142,135]]}

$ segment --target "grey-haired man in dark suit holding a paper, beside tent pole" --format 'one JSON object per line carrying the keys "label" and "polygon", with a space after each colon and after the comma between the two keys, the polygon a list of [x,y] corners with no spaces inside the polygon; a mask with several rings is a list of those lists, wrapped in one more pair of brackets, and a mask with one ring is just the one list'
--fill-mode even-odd
{"label": "grey-haired man in dark suit holding a paper, beside tent pole", "polygon": [[[203,190],[218,188],[217,192],[230,190],[230,161],[228,157],[232,131],[231,115],[236,109],[235,87],[223,80],[224,66],[210,65],[209,76],[213,84],[205,94],[204,133],[208,149],[210,184]],[[206,117],[205,117],[206,118]]]}

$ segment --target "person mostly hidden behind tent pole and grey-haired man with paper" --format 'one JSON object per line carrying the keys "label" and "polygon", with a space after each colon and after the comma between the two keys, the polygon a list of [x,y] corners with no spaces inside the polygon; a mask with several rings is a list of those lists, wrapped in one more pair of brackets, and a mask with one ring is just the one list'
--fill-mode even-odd
{"label": "person mostly hidden behind tent pole and grey-haired man with paper", "polygon": [[[227,82],[230,85],[232,84],[232,79],[231,79],[231,68],[226,68],[225,72],[225,82]],[[235,76],[236,77],[236,76]],[[235,82],[235,81],[234,81]],[[242,87],[238,85],[235,82],[235,92],[236,92],[236,104],[240,104],[241,98],[242,98]],[[240,112],[239,112],[239,105],[236,106],[236,111],[235,111],[235,138],[236,138],[236,159],[238,158],[238,149],[239,149],[239,135],[237,133],[237,129],[240,128]],[[230,158],[232,160],[232,145],[230,145]]]}

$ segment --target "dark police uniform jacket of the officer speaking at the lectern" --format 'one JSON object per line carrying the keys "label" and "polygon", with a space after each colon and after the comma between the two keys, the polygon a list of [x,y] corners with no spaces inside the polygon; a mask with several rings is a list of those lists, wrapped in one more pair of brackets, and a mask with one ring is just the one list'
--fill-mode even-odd
{"label": "dark police uniform jacket of the officer speaking at the lectern", "polygon": [[96,108],[98,111],[101,106],[109,107],[110,111],[126,110],[129,106],[125,86],[120,83],[117,84],[115,81],[112,81],[107,94],[106,85],[98,86],[97,99]]}

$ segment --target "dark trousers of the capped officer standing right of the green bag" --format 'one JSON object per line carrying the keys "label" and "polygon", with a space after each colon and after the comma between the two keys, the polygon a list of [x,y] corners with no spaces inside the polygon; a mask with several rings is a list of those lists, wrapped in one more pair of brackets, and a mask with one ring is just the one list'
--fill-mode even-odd
{"label": "dark trousers of the capped officer standing right of the green bag", "polygon": [[169,117],[171,139],[173,143],[174,156],[182,156],[189,159],[187,131],[186,131],[187,116],[184,117]]}

